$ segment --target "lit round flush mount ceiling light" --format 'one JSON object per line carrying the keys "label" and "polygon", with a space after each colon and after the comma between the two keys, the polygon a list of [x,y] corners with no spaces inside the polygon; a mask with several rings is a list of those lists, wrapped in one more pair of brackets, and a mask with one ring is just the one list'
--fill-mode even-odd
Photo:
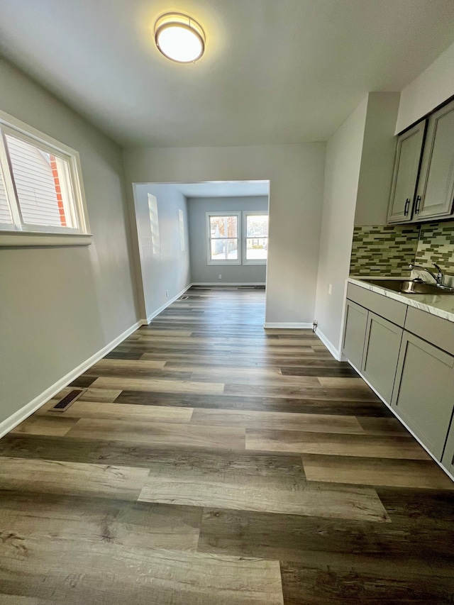
{"label": "lit round flush mount ceiling light", "polygon": [[177,63],[194,63],[205,50],[200,24],[182,13],[167,13],[155,23],[155,43],[162,55]]}

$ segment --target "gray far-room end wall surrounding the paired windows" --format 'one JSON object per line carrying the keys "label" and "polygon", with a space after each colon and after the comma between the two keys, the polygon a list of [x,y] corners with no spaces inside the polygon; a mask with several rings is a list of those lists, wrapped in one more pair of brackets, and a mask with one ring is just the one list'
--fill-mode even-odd
{"label": "gray far-room end wall surrounding the paired windows", "polygon": [[[268,209],[267,196],[189,198],[189,243],[191,276],[194,283],[265,284],[266,265],[208,265],[206,212]],[[222,279],[219,279],[219,274]]]}

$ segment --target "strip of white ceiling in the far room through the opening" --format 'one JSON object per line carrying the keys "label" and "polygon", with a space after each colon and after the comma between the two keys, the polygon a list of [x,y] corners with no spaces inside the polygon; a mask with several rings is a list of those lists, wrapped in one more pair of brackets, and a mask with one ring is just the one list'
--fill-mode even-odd
{"label": "strip of white ceiling in the far room through the opening", "polygon": [[186,197],[247,197],[268,195],[270,181],[209,181],[172,184]]}

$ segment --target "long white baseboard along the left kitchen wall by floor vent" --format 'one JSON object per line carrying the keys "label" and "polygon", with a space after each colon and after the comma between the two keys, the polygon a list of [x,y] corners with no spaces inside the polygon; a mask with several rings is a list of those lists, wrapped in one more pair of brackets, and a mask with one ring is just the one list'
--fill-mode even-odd
{"label": "long white baseboard along the left kitchen wall by floor vent", "polygon": [[6,433],[9,433],[14,427],[18,426],[22,421],[24,421],[28,416],[30,416],[33,412],[38,410],[41,406],[43,406],[49,399],[52,399],[58,392],[67,387],[70,382],[75,380],[80,374],[83,374],[89,367],[92,367],[94,363],[101,360],[105,355],[111,352],[112,349],[116,348],[117,345],[123,342],[125,338],[128,338],[130,334],[135,332],[137,328],[143,326],[143,321],[138,321],[131,328],[128,328],[122,334],[114,338],[108,345],[103,347],[97,353],[89,357],[87,360],[82,362],[80,365],[68,372],[65,376],[57,380],[51,387],[45,389],[43,393],[32,399],[28,404],[23,406],[20,410],[14,412],[12,416],[6,418],[6,420],[0,422],[0,438]]}

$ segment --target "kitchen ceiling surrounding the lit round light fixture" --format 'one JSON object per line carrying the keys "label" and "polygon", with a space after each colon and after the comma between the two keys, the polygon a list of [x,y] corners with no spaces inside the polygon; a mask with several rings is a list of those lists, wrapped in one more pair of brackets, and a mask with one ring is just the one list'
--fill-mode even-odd
{"label": "kitchen ceiling surrounding the lit round light fixture", "polygon": [[[454,40],[453,0],[0,0],[0,53],[122,145],[326,140],[368,91],[399,91]],[[165,59],[153,24],[196,18]]]}

